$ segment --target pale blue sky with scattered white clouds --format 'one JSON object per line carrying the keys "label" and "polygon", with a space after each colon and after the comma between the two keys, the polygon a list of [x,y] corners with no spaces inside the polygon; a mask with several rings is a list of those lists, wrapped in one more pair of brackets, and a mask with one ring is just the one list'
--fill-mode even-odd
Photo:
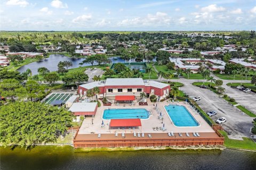
{"label": "pale blue sky with scattered white clouds", "polygon": [[256,1],[1,0],[0,30],[256,30]]}

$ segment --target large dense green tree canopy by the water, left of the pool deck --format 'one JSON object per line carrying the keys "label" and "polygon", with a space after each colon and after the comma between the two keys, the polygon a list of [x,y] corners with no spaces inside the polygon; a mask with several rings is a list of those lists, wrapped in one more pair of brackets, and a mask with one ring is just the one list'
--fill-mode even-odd
{"label": "large dense green tree canopy by the water, left of the pool deck", "polygon": [[29,147],[56,142],[67,130],[73,114],[63,107],[22,101],[2,106],[0,117],[0,142]]}

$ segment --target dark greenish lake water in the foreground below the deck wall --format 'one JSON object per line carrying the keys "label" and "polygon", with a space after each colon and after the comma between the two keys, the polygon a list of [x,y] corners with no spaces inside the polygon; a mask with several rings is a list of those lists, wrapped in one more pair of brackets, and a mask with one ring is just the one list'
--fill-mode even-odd
{"label": "dark greenish lake water in the foreground below the deck wall", "polygon": [[75,152],[72,147],[0,148],[1,169],[255,169],[256,152],[158,150]]}

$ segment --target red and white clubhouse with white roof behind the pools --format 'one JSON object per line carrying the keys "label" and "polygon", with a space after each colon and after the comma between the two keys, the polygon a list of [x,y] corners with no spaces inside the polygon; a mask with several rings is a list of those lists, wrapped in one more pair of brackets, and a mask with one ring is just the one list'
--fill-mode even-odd
{"label": "red and white clubhouse with white roof behind the pools", "polygon": [[140,99],[141,92],[145,92],[148,96],[156,95],[157,99],[161,100],[167,97],[171,90],[169,84],[141,78],[124,78],[82,84],[78,87],[78,93],[82,96],[86,95],[86,91],[94,87],[100,89],[98,98],[106,97],[112,103]]}

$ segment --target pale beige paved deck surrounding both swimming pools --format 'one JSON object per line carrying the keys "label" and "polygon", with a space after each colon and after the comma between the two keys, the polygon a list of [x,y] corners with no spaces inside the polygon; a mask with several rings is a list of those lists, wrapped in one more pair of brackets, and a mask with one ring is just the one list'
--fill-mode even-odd
{"label": "pale beige paved deck surrounding both swimming pools", "polygon": [[[210,132],[210,133],[215,133],[215,131],[211,128],[211,126],[209,124],[207,124],[204,119],[199,115],[196,114],[195,111],[193,111],[190,108],[189,104],[185,104],[184,102],[174,102],[171,103],[172,105],[182,105],[185,106],[188,111],[191,113],[191,115],[193,115],[195,117],[195,119],[197,120],[197,122],[200,124],[199,126],[194,126],[194,127],[178,127],[175,126],[172,121],[170,120],[169,115],[166,113],[164,106],[168,105],[169,103],[167,103],[167,101],[163,101],[163,102],[157,102],[157,107],[159,109],[159,111],[162,112],[162,116],[163,116],[163,123],[165,125],[165,128],[167,129],[166,131],[162,131],[162,130],[158,130],[158,131],[154,131],[153,128],[154,127],[163,127],[162,124],[162,120],[158,119],[158,113],[156,112],[156,110],[154,109],[154,105],[153,103],[151,103],[150,101],[148,101],[148,106],[139,106],[138,103],[135,103],[134,106],[130,106],[129,104],[125,104],[125,107],[123,106],[123,104],[120,104],[119,106],[116,106],[115,104],[112,104],[112,106],[103,106],[103,104],[101,103],[101,107],[98,108],[97,113],[95,114],[95,117],[93,118],[93,124],[92,124],[92,118],[91,117],[86,117],[82,123],[81,128],[79,129],[78,134],[92,134],[92,133],[101,133],[101,134],[105,134],[105,133],[133,133],[134,131],[137,133],[166,133],[166,132],[173,132],[173,133],[193,133],[193,132],[199,132],[199,133],[205,133],[205,132]],[[104,109],[108,109],[108,108],[146,108],[148,111],[150,111],[153,115],[149,116],[148,119],[141,119],[141,127],[133,130],[133,129],[109,129],[109,123],[110,120],[103,120],[102,119],[102,113]],[[101,128],[101,123],[102,120],[105,124],[105,127]]]}

